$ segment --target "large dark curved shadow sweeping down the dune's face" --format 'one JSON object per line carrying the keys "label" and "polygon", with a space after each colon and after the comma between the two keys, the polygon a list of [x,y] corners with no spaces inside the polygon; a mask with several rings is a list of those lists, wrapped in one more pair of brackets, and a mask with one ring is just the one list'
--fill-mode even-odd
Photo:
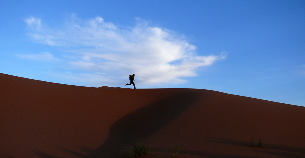
{"label": "large dark curved shadow sweeping down the dune's face", "polygon": [[[171,120],[183,113],[187,108],[194,105],[199,97],[195,92],[181,92],[145,105],[117,120],[109,129],[106,141],[95,150],[85,149],[88,155],[83,155],[63,149],[77,157],[88,158],[117,158],[124,156],[122,150],[131,145],[133,140],[145,139],[162,129]],[[51,158],[38,151],[38,156]]]}

